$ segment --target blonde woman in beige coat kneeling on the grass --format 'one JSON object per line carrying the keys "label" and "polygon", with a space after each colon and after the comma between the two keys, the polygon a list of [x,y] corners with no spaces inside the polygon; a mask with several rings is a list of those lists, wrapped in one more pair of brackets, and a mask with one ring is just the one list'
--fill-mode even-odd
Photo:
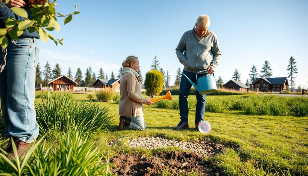
{"label": "blonde woman in beige coat kneeling on the grass", "polygon": [[139,60],[135,56],[128,56],[122,63],[120,79],[119,115],[120,123],[118,130],[126,126],[136,130],[144,130],[143,104],[151,105],[149,98],[143,98],[139,80]]}

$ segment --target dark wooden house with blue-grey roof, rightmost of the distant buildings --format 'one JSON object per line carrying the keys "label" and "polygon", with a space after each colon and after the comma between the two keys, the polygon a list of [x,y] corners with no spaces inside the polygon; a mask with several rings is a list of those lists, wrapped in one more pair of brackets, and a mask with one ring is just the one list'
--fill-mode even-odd
{"label": "dark wooden house with blue-grey roof, rightmost of the distant buildings", "polygon": [[256,78],[251,84],[252,88],[261,92],[282,92],[289,86],[287,77],[280,78]]}

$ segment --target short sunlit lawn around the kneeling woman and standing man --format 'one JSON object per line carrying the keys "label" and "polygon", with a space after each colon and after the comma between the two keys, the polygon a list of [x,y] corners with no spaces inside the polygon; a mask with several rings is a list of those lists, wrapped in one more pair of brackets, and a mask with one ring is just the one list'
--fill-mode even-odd
{"label": "short sunlit lawn around the kneeling woman and standing man", "polygon": [[[73,94],[74,99],[85,101],[87,94]],[[210,99],[240,98],[236,96],[208,96]],[[259,95],[249,95],[260,97]],[[194,97],[194,96],[190,96]],[[177,99],[177,96],[173,96]],[[287,98],[286,98],[287,99]],[[42,99],[37,98],[36,103]],[[206,158],[227,175],[308,175],[308,117],[246,115],[244,111],[227,110],[224,113],[205,113],[204,120],[212,125],[209,134],[194,131],[195,109],[189,111],[188,130],[173,131],[180,121],[176,109],[144,106],[147,129],[136,131],[125,129],[117,131],[119,123],[118,104],[112,102],[93,102],[100,108],[106,107],[112,116],[109,132],[99,132],[93,136],[93,147],[106,157],[119,153],[146,154],[151,157],[154,151],[108,147],[107,142],[118,137],[163,137],[178,141],[207,140],[219,142],[227,147],[222,154]],[[308,106],[308,105],[307,105]],[[51,141],[48,141],[52,143]],[[0,146],[5,140],[0,138]],[[265,174],[263,174],[263,172]]]}

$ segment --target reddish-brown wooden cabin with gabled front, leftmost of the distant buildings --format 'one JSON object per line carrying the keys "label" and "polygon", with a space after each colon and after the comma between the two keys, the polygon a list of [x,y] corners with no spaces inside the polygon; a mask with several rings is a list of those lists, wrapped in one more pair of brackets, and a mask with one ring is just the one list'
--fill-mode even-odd
{"label": "reddish-brown wooden cabin with gabled front, leftmost of the distant buildings", "polygon": [[48,84],[51,84],[52,90],[54,91],[72,91],[75,85],[79,85],[74,80],[65,75],[50,81]]}

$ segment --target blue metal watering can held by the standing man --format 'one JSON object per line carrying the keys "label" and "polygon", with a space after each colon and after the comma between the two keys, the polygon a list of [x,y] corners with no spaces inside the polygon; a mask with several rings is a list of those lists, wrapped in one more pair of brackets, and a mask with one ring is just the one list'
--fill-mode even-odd
{"label": "blue metal watering can held by the standing man", "polygon": [[193,84],[193,87],[196,88],[196,90],[199,92],[199,94],[204,95],[204,94],[211,94],[217,91],[217,86],[216,86],[216,80],[213,74],[209,74],[207,70],[198,72],[196,74],[196,79],[197,79],[197,85],[193,83],[184,73],[181,75],[184,75],[185,78]]}

